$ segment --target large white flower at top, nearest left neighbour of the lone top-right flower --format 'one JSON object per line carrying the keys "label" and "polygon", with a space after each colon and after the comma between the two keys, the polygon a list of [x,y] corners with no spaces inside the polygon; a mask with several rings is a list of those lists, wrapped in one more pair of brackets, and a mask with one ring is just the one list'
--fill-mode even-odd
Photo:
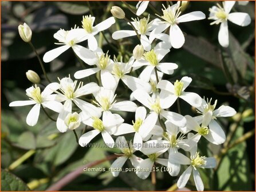
{"label": "large white flower at top, nearest left neighbour of the lone top-right flower", "polygon": [[[163,5],[164,7],[164,5]],[[201,20],[205,19],[206,15],[202,11],[193,11],[191,13],[184,14],[180,16],[182,13],[180,11],[180,2],[176,3],[175,5],[168,6],[167,8],[164,7],[162,9],[163,11],[163,16],[157,15],[164,19],[162,22],[162,25],[159,25],[154,29],[150,36],[149,36],[149,41],[152,42],[153,39],[157,38],[157,35],[162,33],[162,31],[166,30],[168,27],[170,27],[170,42],[172,47],[175,49],[178,49],[183,46],[185,42],[184,35],[182,33],[182,30],[180,30],[179,26],[177,24],[183,23],[183,22],[188,22],[188,21],[196,21],[196,20]]]}

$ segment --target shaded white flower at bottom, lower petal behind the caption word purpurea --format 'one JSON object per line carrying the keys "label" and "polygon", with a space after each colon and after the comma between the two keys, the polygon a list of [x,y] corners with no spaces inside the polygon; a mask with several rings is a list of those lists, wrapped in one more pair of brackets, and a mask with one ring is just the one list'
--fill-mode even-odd
{"label": "shaded white flower at bottom, lower petal behind the caption word purpurea", "polygon": [[167,149],[162,149],[161,144],[162,144],[162,141],[157,141],[157,140],[151,140],[144,143],[140,151],[143,154],[147,155],[148,158],[141,161],[140,164],[137,166],[138,170],[136,171],[136,174],[139,178],[141,179],[148,178],[155,162],[167,167],[168,159],[159,158],[159,156],[164,152],[166,152],[167,150]]}

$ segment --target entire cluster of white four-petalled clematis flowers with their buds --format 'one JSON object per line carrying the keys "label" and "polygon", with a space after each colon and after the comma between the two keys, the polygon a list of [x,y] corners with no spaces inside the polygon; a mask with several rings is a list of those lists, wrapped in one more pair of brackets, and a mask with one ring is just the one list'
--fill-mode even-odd
{"label": "entire cluster of white four-petalled clematis flowers with their buds", "polygon": [[[148,3],[140,1],[137,4],[137,15],[144,13]],[[223,7],[218,4],[210,9],[209,19],[215,20],[211,25],[220,23],[219,43],[225,47],[229,45],[227,20],[241,26],[250,23],[248,14],[230,13],[234,3],[223,2]],[[132,36],[139,38],[141,45],[135,47],[127,62],[111,57],[108,51],[104,52],[94,37],[111,27],[115,23],[114,17],[94,25],[95,18],[85,15],[82,17],[81,28],[75,26],[68,31],[58,30],[53,37],[58,40],[56,44],[61,46],[45,53],[44,62],[53,61],[71,47],[74,54],[88,66],[74,73],[76,80],[69,75],[50,83],[44,91],[41,91],[38,84],[38,75],[30,74],[30,71],[28,78],[36,78],[30,81],[38,85],[26,90],[29,101],[14,101],[10,106],[34,105],[26,119],[30,126],[36,125],[40,108],[48,108],[58,113],[56,126],[62,133],[76,130],[82,124],[91,127],[78,139],[79,145],[84,147],[101,134],[109,147],[117,146],[121,150],[120,157],[111,167],[123,167],[129,159],[141,179],[149,176],[156,163],[168,167],[171,176],[179,175],[180,165],[188,165],[178,179],[178,187],[184,187],[192,173],[196,189],[202,191],[204,186],[198,169],[214,168],[216,161],[213,157],[207,158],[199,153],[198,142],[202,137],[215,145],[225,142],[225,132],[218,118],[231,117],[236,111],[225,105],[216,107],[217,101],[205,100],[196,93],[186,91],[192,82],[190,77],[185,76],[174,82],[162,79],[164,74],[171,75],[178,68],[176,63],[165,62],[164,57],[170,53],[171,47],[179,49],[183,46],[185,37],[180,25],[206,18],[202,11],[183,14],[180,2],[163,6],[162,11],[162,15],[157,15],[159,18],[156,19],[151,19],[150,15],[132,19],[128,24],[134,30],[119,30],[112,34],[113,39]],[[113,7],[111,13],[119,19],[125,18],[120,7]],[[31,35],[27,37],[30,30],[27,27],[22,27],[20,34],[22,39],[30,41]],[[78,45],[84,41],[87,41],[88,48]],[[143,70],[139,70],[141,67]],[[97,74],[98,82],[84,85],[82,79],[94,74]],[[117,91],[120,81],[131,90],[129,98],[120,99]],[[86,96],[92,99],[85,99]],[[179,105],[179,99],[195,107],[199,115],[191,117],[180,114],[180,111],[170,111],[169,108],[176,101]],[[124,123],[124,117],[117,114],[117,111],[135,113],[134,121]],[[124,136],[119,136],[131,133],[134,136],[130,142]],[[136,151],[141,152],[141,157],[134,154]],[[184,151],[190,155],[187,157]],[[112,174],[117,177],[119,171],[113,171]]]}

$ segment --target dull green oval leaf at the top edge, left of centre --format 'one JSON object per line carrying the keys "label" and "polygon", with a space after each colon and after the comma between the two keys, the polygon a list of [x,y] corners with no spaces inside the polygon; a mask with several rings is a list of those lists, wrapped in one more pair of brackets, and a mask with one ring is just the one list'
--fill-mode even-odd
{"label": "dull green oval leaf at the top edge, left of centre", "polygon": [[56,5],[61,11],[72,15],[81,15],[89,11],[85,2],[56,2]]}

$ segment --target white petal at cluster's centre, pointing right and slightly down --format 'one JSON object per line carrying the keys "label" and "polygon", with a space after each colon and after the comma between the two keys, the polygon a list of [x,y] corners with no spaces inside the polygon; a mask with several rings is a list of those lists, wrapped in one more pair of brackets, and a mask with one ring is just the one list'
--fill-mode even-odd
{"label": "white petal at cluster's centre, pointing right and slightly down", "polygon": [[129,89],[131,89],[132,91],[135,91],[137,89],[143,89],[149,92],[151,90],[151,86],[149,85],[149,83],[144,82],[142,79],[132,77],[130,75],[124,75],[121,79],[124,84],[127,85],[127,87],[129,87]]}

